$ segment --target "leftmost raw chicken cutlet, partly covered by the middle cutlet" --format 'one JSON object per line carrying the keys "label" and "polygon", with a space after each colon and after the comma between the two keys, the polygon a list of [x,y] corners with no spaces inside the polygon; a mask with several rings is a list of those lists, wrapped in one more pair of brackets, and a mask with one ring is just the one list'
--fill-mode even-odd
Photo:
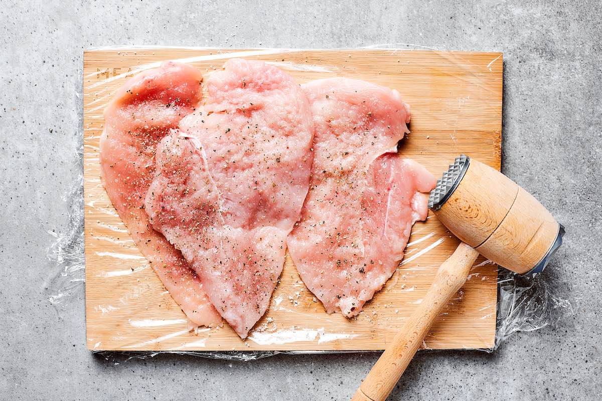
{"label": "leftmost raw chicken cutlet, partly covered by the middle cutlet", "polygon": [[123,84],[105,109],[100,142],[101,179],[113,206],[141,253],[196,325],[222,321],[199,277],[144,212],[144,197],[155,173],[155,147],[193,112],[202,76],[185,64],[164,63]]}

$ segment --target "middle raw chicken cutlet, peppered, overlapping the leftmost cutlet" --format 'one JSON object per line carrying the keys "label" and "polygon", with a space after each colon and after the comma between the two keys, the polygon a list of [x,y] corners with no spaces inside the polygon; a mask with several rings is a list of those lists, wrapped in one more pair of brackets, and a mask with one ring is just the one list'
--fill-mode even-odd
{"label": "middle raw chicken cutlet, peppered, overlapping the leftmost cutlet", "polygon": [[146,212],[244,338],[284,265],[308,190],[314,127],[302,89],[276,67],[230,60],[205,82],[206,104],[157,148]]}

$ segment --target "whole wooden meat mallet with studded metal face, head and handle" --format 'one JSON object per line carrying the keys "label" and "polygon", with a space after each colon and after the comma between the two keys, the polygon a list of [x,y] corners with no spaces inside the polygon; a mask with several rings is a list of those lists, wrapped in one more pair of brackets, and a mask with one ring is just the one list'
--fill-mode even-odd
{"label": "whole wooden meat mallet with studded metal face, head and handle", "polygon": [[383,401],[450,298],[482,254],[519,274],[541,272],[562,244],[564,227],[515,182],[465,155],[438,180],[429,208],[462,242],[436,273],[417,310],[393,338],[352,401]]}

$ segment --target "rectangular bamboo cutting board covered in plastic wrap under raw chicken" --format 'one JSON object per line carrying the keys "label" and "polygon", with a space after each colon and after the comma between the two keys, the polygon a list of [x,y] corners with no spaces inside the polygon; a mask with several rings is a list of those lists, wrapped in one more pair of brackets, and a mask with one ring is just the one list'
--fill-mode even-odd
{"label": "rectangular bamboo cutting board covered in plastic wrap under raw chicken", "polygon": [[[297,81],[359,78],[399,90],[411,106],[400,152],[440,177],[465,153],[499,170],[502,55],[395,51],[105,49],[84,52],[84,203],[87,346],[91,350],[378,350],[421,302],[458,239],[429,212],[417,222],[405,259],[356,319],[326,314],[287,257],[270,309],[246,341],[225,323],[188,330],[184,313],[129,237],[100,182],[98,142],[107,102],[141,70],[165,60],[201,72],[234,57],[274,63]],[[465,286],[439,316],[423,347],[494,345],[497,266],[477,260]]]}

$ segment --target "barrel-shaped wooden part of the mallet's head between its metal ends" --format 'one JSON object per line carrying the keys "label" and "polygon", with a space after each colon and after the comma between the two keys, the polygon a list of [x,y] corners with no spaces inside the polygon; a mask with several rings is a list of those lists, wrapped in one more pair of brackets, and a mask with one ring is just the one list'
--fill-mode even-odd
{"label": "barrel-shaped wooden part of the mallet's head between its metal ends", "polygon": [[476,159],[435,215],[483,256],[520,274],[543,259],[559,228],[532,195]]}

